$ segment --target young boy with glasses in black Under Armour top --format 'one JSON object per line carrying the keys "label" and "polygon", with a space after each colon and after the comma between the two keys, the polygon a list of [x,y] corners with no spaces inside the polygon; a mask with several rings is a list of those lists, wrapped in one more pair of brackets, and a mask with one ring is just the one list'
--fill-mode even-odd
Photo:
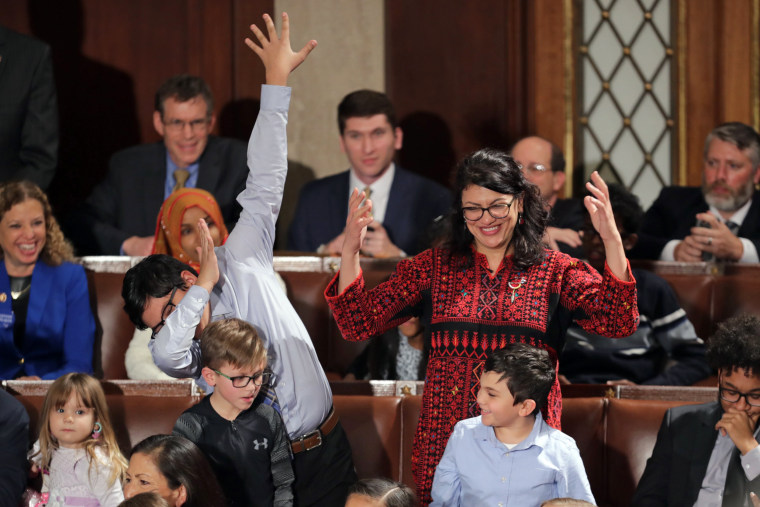
{"label": "young boy with glasses in black Under Armour top", "polygon": [[214,392],[183,413],[174,433],[208,458],[228,505],[292,505],[290,443],[280,415],[256,395],[272,382],[266,348],[240,319],[201,334],[203,379]]}

